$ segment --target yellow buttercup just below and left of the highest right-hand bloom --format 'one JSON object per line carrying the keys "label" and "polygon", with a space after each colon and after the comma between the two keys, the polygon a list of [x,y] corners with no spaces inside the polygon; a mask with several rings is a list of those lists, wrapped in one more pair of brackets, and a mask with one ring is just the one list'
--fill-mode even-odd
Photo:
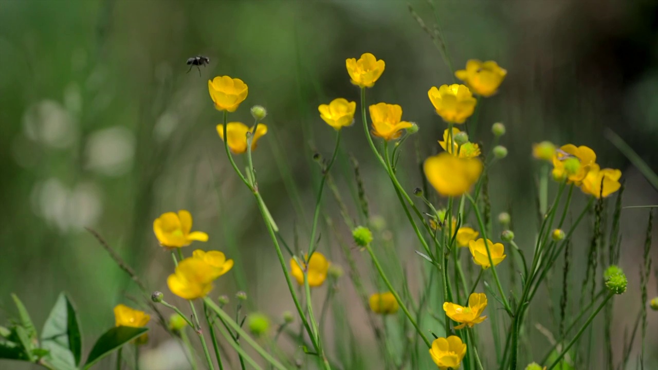
{"label": "yellow buttercup just below and left of the highest right-hand bloom", "polygon": [[432,86],[427,95],[436,114],[449,123],[464,123],[473,114],[477,102],[466,86],[458,84],[442,85],[438,89]]}

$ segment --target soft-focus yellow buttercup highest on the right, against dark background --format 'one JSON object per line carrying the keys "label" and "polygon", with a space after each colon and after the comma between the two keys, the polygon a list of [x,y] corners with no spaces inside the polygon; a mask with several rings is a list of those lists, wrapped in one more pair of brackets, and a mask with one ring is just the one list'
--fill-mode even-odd
{"label": "soft-focus yellow buttercup highest on the right, against dark background", "polygon": [[494,61],[478,61],[470,59],[466,69],[457,70],[455,76],[465,82],[470,90],[484,97],[490,97],[503,83],[507,70],[500,68]]}

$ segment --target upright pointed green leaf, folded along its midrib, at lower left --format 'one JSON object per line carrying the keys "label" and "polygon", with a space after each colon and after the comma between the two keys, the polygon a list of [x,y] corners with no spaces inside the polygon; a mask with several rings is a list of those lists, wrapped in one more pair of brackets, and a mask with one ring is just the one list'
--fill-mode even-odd
{"label": "upright pointed green leaf, folded along its midrib, at lower left", "polygon": [[41,346],[50,351],[49,362],[75,368],[80,363],[82,338],[78,315],[66,294],[59,294],[57,302],[41,330]]}

